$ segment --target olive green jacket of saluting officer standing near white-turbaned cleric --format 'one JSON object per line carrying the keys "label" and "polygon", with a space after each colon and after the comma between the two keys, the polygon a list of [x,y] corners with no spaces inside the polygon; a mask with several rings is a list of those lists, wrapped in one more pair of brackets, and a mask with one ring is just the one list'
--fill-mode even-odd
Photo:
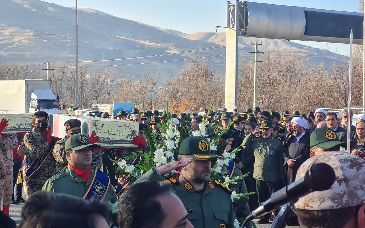
{"label": "olive green jacket of saluting officer standing near white-turbaned cleric", "polygon": [[284,178],[284,145],[276,137],[264,139],[261,134],[247,135],[242,142],[246,154],[254,153],[253,177],[267,182],[281,181]]}

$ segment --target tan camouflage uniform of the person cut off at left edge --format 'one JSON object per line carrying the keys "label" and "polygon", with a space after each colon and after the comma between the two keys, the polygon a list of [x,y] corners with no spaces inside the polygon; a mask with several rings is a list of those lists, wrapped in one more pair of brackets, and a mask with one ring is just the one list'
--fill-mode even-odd
{"label": "tan camouflage uniform of the person cut off at left edge", "polygon": [[2,153],[1,166],[3,167],[4,175],[1,176],[3,190],[0,191],[0,205],[3,200],[4,206],[10,206],[11,196],[13,194],[13,149],[18,145],[18,140],[15,134],[9,137],[0,139],[0,152]]}

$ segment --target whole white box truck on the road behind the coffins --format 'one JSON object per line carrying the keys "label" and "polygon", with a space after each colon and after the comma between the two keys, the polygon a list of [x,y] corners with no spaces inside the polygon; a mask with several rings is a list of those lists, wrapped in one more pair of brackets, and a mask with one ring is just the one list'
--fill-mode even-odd
{"label": "whole white box truck on the road behind the coffins", "polygon": [[0,80],[0,113],[36,111],[61,113],[51,80]]}

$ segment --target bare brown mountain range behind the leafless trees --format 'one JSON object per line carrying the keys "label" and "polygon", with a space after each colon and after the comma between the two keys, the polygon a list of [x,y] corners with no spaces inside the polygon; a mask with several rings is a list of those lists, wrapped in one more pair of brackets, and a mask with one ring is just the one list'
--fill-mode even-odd
{"label": "bare brown mountain range behind the leafless trees", "polygon": [[[39,0],[0,0],[0,61],[53,62],[74,61],[75,10]],[[95,9],[78,11],[78,57],[80,61],[128,58],[118,61],[90,62],[88,65],[113,66],[119,73],[141,76],[146,67],[161,68],[164,77],[176,72],[186,59],[200,58],[213,68],[224,70],[225,33],[185,34],[118,18]],[[249,41],[260,41],[261,50],[308,58],[327,66],[343,58],[323,49],[315,49],[290,41],[265,41],[240,37],[243,58],[252,58]],[[68,47],[68,48],[67,48]],[[191,50],[196,52],[187,52]],[[67,52],[68,50],[68,52]],[[187,53],[181,53],[187,52]],[[172,54],[177,53],[177,54]],[[166,55],[170,54],[170,55]],[[223,56],[222,56],[223,55]],[[144,56],[155,56],[142,58]],[[210,57],[209,56],[217,56]],[[184,61],[178,61],[184,60]],[[154,62],[153,64],[149,64]],[[74,64],[68,64],[74,66]],[[40,68],[41,69],[41,68]]]}

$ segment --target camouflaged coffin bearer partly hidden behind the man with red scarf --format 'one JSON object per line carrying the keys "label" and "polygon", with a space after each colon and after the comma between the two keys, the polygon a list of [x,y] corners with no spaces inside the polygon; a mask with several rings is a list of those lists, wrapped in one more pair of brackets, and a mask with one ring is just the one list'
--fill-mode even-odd
{"label": "camouflaged coffin bearer partly hidden behind the man with red scarf", "polygon": [[[81,133],[81,121],[78,119],[69,119],[64,123],[64,126],[66,128],[66,136],[62,138],[61,140],[58,140],[54,144],[53,148],[53,156],[56,160],[56,171],[61,172],[64,168],[67,167],[67,158],[66,158],[66,151],[65,151],[65,142],[66,140],[72,136],[73,134]],[[95,142],[99,141],[99,137],[95,135],[92,135],[89,137],[89,140],[91,141],[91,144],[94,144]],[[103,155],[103,150],[96,150],[93,153],[91,166],[92,167],[101,167],[101,156]]]}

